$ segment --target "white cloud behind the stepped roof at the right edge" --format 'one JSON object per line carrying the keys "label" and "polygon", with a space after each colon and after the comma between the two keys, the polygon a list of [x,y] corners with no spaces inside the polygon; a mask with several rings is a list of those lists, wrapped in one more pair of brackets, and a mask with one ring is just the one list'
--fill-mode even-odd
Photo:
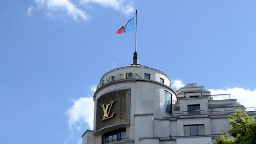
{"label": "white cloud behind the stepped roof at the right edge", "polygon": [[245,88],[226,88],[226,89],[208,89],[211,94],[230,94],[231,99],[237,99],[237,102],[245,107],[256,107],[256,89]]}

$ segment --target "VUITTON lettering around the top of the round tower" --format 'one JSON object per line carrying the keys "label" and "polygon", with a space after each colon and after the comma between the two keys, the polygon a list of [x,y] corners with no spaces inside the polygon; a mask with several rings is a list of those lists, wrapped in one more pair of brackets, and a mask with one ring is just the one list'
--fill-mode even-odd
{"label": "VUITTON lettering around the top of the round tower", "polygon": [[141,79],[141,73],[140,74],[122,73],[122,74],[117,74],[117,75],[104,77],[104,78],[101,80],[100,85],[98,85],[97,88],[100,88],[101,86],[106,85],[107,83],[113,82],[113,81],[125,80],[125,79]]}

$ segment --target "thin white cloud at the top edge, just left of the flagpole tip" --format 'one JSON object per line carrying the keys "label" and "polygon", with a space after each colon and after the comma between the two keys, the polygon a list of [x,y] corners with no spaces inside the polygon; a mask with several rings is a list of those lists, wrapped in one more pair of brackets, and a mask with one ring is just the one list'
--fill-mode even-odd
{"label": "thin white cloud at the top edge, just left of the flagpole tip", "polygon": [[98,3],[102,5],[102,7],[110,7],[116,10],[121,10],[125,14],[130,14],[134,12],[131,1],[128,1],[126,4],[124,4],[125,2],[126,1],[124,0],[80,0],[80,3],[82,4]]}

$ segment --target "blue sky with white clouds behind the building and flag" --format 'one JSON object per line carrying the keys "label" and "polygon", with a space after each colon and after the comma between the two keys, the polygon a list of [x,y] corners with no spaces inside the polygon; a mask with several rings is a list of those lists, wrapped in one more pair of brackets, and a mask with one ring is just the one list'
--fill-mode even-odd
{"label": "blue sky with white clouds behind the building and flag", "polygon": [[29,0],[0,2],[1,143],[81,143],[101,76],[139,63],[177,89],[197,83],[256,100],[256,1]]}

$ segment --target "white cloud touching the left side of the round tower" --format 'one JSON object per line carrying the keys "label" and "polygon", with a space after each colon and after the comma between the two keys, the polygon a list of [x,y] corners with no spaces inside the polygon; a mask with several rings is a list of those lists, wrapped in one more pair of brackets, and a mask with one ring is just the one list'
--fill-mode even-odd
{"label": "white cloud touching the left side of the round tower", "polygon": [[[96,86],[92,86],[92,92],[96,91]],[[90,129],[94,127],[94,100],[93,97],[83,97],[79,99],[72,100],[73,105],[66,112],[68,116],[68,124],[70,129],[73,127],[80,130],[77,124],[88,123]]]}

